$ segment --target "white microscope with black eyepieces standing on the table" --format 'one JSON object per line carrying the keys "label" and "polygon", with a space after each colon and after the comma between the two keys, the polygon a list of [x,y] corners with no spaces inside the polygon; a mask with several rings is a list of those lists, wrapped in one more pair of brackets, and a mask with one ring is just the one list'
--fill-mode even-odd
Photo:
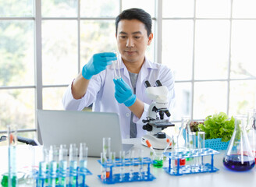
{"label": "white microscope with black eyepieces standing on the table", "polygon": [[162,132],[163,129],[174,126],[169,119],[165,119],[171,116],[169,113],[169,99],[167,95],[169,90],[166,86],[162,86],[160,80],[155,82],[156,86],[151,86],[148,80],[145,81],[146,94],[153,101],[148,108],[147,119],[142,120],[146,123],[143,125],[143,129],[147,130],[147,134],[141,138],[141,143],[147,146],[148,140],[154,149],[164,150],[166,146],[166,140],[170,139],[169,136]]}

